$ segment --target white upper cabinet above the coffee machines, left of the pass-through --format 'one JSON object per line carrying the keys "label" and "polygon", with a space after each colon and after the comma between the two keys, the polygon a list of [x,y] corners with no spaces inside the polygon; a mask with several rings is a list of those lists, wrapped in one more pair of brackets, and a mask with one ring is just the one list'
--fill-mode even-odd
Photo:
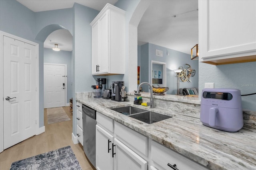
{"label": "white upper cabinet above the coffee machines, left of the pass-through", "polygon": [[124,74],[125,11],[106,4],[92,26],[92,75]]}

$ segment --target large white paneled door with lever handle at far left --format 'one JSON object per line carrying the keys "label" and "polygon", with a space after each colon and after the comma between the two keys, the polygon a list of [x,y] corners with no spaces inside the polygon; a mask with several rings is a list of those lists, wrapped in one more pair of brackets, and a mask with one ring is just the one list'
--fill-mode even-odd
{"label": "large white paneled door with lever handle at far left", "polygon": [[4,36],[4,149],[36,134],[36,46]]}

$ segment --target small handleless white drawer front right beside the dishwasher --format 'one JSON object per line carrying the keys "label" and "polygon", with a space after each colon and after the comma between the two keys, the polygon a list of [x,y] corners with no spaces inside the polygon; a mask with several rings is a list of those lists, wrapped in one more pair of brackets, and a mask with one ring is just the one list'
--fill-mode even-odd
{"label": "small handleless white drawer front right beside the dishwasher", "polygon": [[97,124],[108,132],[114,133],[114,120],[103,115],[102,113],[96,113]]}

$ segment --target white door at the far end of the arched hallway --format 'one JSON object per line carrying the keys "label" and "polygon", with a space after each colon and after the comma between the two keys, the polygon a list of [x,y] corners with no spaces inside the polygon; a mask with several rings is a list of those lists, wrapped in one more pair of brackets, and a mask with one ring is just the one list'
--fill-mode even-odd
{"label": "white door at the far end of the arched hallway", "polygon": [[65,67],[44,64],[44,108],[65,106]]}

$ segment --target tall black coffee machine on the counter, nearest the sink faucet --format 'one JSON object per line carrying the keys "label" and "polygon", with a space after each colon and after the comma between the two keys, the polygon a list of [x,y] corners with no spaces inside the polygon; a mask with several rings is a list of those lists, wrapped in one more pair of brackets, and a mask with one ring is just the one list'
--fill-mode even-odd
{"label": "tall black coffee machine on the counter, nearest the sink faucet", "polygon": [[126,96],[126,92],[124,91],[124,82],[112,82],[113,92],[115,93],[114,96],[112,94],[112,100],[116,100],[118,102],[123,102]]}

